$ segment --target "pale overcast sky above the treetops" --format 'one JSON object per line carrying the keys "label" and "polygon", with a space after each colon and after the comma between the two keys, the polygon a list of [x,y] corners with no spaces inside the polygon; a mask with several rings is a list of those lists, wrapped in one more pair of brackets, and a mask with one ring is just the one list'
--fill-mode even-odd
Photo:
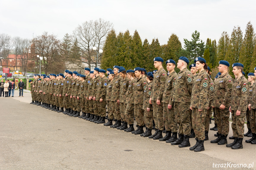
{"label": "pale overcast sky above the treetops", "polygon": [[82,22],[102,18],[113,23],[117,33],[127,29],[139,32],[142,42],[158,38],[160,44],[175,33],[191,39],[198,30],[200,38],[218,42],[221,33],[239,25],[245,33],[247,22],[256,27],[256,1],[180,0],[180,1],[66,1],[0,0],[0,33],[33,38],[44,31],[62,39]]}

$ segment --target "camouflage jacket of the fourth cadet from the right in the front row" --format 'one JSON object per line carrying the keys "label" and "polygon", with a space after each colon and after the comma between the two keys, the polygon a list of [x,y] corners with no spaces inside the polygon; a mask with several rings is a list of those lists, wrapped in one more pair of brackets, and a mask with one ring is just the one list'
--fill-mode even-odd
{"label": "camouflage jacket of the fourth cadet from the right in the front row", "polygon": [[157,72],[155,72],[153,79],[153,89],[150,96],[151,100],[162,100],[166,78],[167,72],[165,71],[165,69],[163,69],[163,67],[160,68]]}

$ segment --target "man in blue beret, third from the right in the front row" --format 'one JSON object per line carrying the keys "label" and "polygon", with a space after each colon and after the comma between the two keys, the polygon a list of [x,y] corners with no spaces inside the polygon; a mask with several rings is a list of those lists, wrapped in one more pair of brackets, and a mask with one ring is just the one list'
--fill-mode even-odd
{"label": "man in blue beret, third from the right in the front row", "polygon": [[[174,84],[174,78],[177,73],[174,71],[176,62],[172,59],[167,60],[166,62],[167,71],[169,71],[169,75],[165,81],[165,87],[163,91],[163,122],[166,129],[166,135],[163,138],[160,138],[159,141],[166,141],[171,138],[171,131],[173,137],[171,140],[166,143],[174,142],[177,139],[177,130],[178,126],[175,121],[174,107],[171,107],[173,102],[170,100],[172,96],[172,89]],[[169,104],[170,103],[170,104]],[[170,105],[168,107],[168,105]]]}

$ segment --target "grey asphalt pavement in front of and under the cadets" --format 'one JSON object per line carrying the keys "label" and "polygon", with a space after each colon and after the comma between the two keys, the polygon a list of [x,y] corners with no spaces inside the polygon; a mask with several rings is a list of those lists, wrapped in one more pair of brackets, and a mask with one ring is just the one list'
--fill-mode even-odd
{"label": "grey asphalt pavement in front of and under the cadets", "polygon": [[14,96],[0,98],[0,169],[236,169],[213,166],[248,166],[256,158],[256,145],[245,141],[239,150],[211,144],[216,131],[196,153],[29,104],[30,93]]}

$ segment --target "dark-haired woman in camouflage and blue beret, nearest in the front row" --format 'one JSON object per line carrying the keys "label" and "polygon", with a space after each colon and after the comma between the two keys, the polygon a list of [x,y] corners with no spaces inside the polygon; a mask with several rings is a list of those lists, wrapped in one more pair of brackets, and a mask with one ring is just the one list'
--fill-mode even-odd
{"label": "dark-haired woman in camouflage and blue beret, nearest in the front row", "polygon": [[193,79],[190,109],[192,110],[192,124],[197,142],[189,149],[200,152],[204,150],[204,118],[209,106],[210,76],[205,71],[208,68],[205,59],[197,57],[195,58],[195,64],[199,72]]}

